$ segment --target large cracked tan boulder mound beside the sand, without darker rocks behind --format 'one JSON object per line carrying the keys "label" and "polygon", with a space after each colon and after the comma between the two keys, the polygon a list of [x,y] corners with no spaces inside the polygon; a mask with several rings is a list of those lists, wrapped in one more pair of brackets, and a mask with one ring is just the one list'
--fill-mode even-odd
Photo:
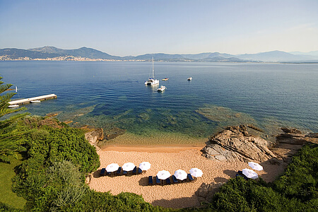
{"label": "large cracked tan boulder mound beside the sand, without darker rocks behind", "polygon": [[250,135],[244,125],[229,126],[212,136],[201,151],[211,160],[264,162],[276,157],[268,144],[268,141]]}

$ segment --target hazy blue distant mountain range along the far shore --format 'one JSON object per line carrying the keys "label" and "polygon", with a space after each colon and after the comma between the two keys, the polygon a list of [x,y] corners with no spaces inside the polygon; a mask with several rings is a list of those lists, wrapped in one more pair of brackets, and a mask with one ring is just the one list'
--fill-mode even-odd
{"label": "hazy blue distant mountain range along the far shore", "polygon": [[0,60],[11,59],[102,59],[102,60],[151,60],[156,61],[205,61],[205,62],[318,62],[318,51],[314,52],[261,52],[257,54],[222,54],[206,52],[200,54],[142,54],[139,56],[118,57],[96,49],[81,47],[79,49],[59,49],[57,47],[40,47],[34,49],[0,49]]}

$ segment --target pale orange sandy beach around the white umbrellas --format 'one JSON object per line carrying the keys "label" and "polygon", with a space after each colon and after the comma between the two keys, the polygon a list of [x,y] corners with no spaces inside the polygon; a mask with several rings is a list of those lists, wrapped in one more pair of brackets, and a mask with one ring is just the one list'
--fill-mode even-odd
{"label": "pale orange sandy beach around the white umbrellas", "polygon": [[[154,206],[164,206],[170,208],[185,208],[200,206],[196,192],[202,183],[226,182],[231,177],[235,177],[237,170],[249,168],[247,163],[227,163],[216,160],[208,160],[201,156],[200,149],[204,146],[106,146],[103,151],[98,151],[100,155],[100,168],[94,172],[90,181],[90,189],[98,192],[108,192],[119,194],[120,192],[132,192],[143,196],[145,201]],[[110,163],[131,162],[135,165],[143,161],[151,163],[151,169],[141,175],[99,177],[102,167]],[[278,175],[283,173],[282,165],[270,165],[261,163],[264,170],[256,171],[260,177],[271,182]],[[195,182],[182,184],[170,184],[165,186],[148,186],[148,176],[157,175],[160,170],[167,170],[171,175],[175,170],[182,169],[189,173],[192,167],[198,167],[204,172],[202,177],[198,177]]]}

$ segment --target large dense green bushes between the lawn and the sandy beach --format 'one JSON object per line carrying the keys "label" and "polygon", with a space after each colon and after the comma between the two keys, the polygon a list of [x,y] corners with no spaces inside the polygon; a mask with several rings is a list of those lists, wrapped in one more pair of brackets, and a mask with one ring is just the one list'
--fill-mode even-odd
{"label": "large dense green bushes between the lawn and the sandy beach", "polygon": [[[42,117],[25,117],[18,125],[33,131],[25,134],[27,160],[18,167],[13,190],[28,200],[28,209],[47,211],[74,204],[86,188],[85,175],[100,166],[98,154],[81,129]],[[54,127],[53,127],[54,126]]]}

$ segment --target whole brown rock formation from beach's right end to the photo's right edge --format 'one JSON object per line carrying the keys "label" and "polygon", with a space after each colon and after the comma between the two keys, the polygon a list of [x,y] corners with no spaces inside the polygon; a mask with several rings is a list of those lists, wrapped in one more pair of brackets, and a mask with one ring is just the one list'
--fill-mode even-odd
{"label": "whole brown rock formation from beach's right end to the photo's right edge", "polygon": [[[249,126],[250,127],[250,126]],[[276,143],[269,143],[247,131],[245,125],[228,126],[225,130],[211,136],[208,144],[201,150],[206,158],[235,162],[265,162],[279,165],[289,163],[291,156],[306,142],[318,143],[318,134],[302,134],[298,129],[281,128],[282,134],[276,136]]]}

